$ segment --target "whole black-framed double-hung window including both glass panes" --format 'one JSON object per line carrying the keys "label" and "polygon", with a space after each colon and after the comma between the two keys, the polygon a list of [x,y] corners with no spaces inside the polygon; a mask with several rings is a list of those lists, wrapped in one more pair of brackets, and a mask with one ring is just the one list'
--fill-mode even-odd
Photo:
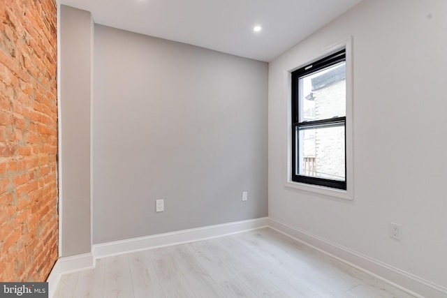
{"label": "whole black-framed double-hung window including both glass panes", "polygon": [[291,180],[346,190],[346,50],[292,73]]}

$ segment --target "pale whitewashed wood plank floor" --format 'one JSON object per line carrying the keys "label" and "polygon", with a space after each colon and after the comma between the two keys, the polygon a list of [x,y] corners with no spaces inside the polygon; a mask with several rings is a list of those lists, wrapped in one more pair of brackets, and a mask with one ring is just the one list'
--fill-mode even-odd
{"label": "pale whitewashed wood plank floor", "polygon": [[271,229],[96,261],[55,298],[413,297]]}

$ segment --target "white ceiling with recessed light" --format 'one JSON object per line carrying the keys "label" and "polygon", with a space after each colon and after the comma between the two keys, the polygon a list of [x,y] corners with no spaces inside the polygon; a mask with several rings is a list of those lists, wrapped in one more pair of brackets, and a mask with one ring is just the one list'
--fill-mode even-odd
{"label": "white ceiling with recessed light", "polygon": [[[271,61],[361,0],[59,0],[94,22]],[[255,25],[263,29],[256,33]]]}

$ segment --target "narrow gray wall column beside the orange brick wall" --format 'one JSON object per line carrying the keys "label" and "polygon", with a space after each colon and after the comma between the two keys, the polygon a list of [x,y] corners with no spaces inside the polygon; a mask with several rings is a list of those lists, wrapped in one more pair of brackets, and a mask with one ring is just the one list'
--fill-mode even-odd
{"label": "narrow gray wall column beside the orange brick wall", "polygon": [[91,251],[91,13],[60,6],[60,129],[62,257]]}

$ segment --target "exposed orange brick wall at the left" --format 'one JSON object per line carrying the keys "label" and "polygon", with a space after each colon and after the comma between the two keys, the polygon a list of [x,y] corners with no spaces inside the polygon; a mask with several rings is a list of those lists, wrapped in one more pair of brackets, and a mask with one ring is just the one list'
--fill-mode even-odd
{"label": "exposed orange brick wall at the left", "polygon": [[45,281],[57,260],[54,0],[0,1],[0,281]]}

